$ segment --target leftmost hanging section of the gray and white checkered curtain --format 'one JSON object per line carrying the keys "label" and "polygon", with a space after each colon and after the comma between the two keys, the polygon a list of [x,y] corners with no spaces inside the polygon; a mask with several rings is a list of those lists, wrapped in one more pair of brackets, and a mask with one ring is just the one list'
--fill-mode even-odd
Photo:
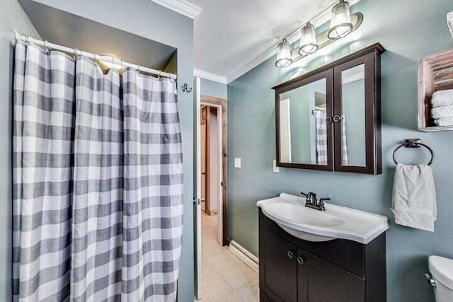
{"label": "leftmost hanging section of the gray and white checkered curtain", "polygon": [[13,297],[66,301],[71,268],[74,59],[16,45]]}

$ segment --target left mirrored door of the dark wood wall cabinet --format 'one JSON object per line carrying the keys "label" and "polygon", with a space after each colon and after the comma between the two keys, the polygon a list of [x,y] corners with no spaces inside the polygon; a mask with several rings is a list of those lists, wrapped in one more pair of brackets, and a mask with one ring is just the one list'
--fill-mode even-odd
{"label": "left mirrored door of the dark wood wall cabinet", "polygon": [[277,165],[333,170],[333,71],[276,91]]}

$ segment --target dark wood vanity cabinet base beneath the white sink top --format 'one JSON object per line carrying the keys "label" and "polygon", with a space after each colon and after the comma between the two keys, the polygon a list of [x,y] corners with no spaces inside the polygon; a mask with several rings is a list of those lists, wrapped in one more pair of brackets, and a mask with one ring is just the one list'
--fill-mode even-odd
{"label": "dark wood vanity cabinet base beneath the white sink top", "polygon": [[260,210],[260,301],[386,301],[385,233],[367,245],[295,238]]}

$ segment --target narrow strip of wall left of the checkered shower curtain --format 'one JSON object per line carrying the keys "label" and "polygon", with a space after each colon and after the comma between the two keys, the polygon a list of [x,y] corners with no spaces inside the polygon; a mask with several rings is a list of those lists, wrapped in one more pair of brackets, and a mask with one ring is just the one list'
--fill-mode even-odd
{"label": "narrow strip of wall left of the checkered shower curtain", "polygon": [[11,100],[14,30],[38,37],[16,0],[0,0],[0,301],[11,301],[12,148]]}

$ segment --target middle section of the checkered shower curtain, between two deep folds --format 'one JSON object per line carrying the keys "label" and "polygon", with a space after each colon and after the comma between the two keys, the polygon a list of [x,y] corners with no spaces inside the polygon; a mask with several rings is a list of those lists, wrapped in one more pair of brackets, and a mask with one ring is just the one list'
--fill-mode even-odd
{"label": "middle section of the checkered shower curtain, between two deep folds", "polygon": [[119,301],[123,122],[120,74],[76,62],[71,301]]}

